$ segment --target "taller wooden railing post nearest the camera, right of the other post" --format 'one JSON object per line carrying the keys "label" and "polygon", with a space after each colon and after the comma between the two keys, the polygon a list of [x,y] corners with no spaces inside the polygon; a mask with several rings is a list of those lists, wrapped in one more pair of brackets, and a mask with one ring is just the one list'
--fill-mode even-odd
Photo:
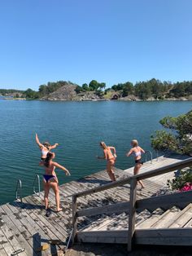
{"label": "taller wooden railing post nearest the camera, right of the other post", "polygon": [[137,196],[137,179],[131,179],[130,183],[130,212],[129,212],[129,229],[128,229],[128,251],[132,250],[133,235],[135,232],[135,214],[136,214],[136,196]]}

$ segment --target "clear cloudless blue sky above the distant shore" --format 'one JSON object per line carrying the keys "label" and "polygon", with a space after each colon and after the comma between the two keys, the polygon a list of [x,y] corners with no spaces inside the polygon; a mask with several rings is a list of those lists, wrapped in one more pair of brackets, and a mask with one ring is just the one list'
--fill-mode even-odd
{"label": "clear cloudless blue sky above the distant shore", "polygon": [[191,0],[2,0],[0,88],[192,78]]}

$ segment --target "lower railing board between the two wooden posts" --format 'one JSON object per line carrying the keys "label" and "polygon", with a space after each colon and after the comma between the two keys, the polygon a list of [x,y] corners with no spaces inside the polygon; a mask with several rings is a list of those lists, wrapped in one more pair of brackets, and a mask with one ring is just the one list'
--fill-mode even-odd
{"label": "lower railing board between the two wooden posts", "polygon": [[76,212],[76,217],[93,216],[98,214],[117,214],[122,212],[129,212],[129,202],[116,203],[113,205],[103,205],[101,207],[94,207]]}

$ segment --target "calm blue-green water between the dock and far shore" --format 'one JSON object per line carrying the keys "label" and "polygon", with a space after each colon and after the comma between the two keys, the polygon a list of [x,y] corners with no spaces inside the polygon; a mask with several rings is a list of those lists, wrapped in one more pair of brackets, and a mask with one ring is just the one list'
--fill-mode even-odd
{"label": "calm blue-green water between the dock and far shore", "polygon": [[41,102],[0,100],[0,204],[15,199],[17,179],[22,179],[24,196],[32,193],[35,174],[43,174],[38,166],[41,142],[59,143],[56,159],[68,170],[66,177],[57,170],[59,183],[78,179],[105,168],[99,141],[116,147],[116,167],[133,166],[125,157],[130,140],[138,139],[142,148],[151,150],[151,134],[159,130],[159,120],[176,117],[191,109],[192,102]]}

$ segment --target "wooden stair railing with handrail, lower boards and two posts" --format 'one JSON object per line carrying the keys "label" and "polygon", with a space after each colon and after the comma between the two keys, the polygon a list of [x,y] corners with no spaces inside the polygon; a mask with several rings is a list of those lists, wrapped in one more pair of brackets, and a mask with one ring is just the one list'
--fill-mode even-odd
{"label": "wooden stair railing with handrail, lower boards and two posts", "polygon": [[[136,210],[155,210],[158,207],[171,207],[172,205],[184,205],[192,201],[192,191],[174,193],[165,196],[154,196],[146,199],[137,200],[137,181],[140,179],[148,179],[159,174],[166,174],[173,170],[181,170],[185,167],[192,166],[192,157],[174,163],[169,166],[160,167],[155,170],[150,170],[142,174],[137,174],[126,179],[121,179],[113,183],[108,183],[101,187],[92,188],[84,192],[78,192],[72,196],[72,242],[75,241],[77,232],[77,218],[81,216],[91,216],[96,214],[110,214],[129,212],[129,229],[128,229],[128,250],[132,249],[133,235],[135,232],[135,216]],[[110,188],[116,188],[124,184],[130,183],[130,197],[128,202],[117,203],[114,205],[103,205],[101,207],[89,208],[86,210],[77,211],[77,198],[81,196],[87,196],[96,192],[102,192]]]}

